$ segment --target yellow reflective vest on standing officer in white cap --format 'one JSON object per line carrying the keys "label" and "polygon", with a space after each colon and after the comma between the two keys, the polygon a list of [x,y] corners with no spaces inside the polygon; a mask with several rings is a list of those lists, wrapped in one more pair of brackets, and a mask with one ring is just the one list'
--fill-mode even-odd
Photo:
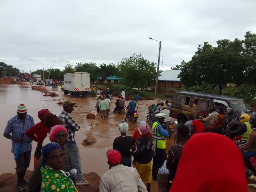
{"label": "yellow reflective vest on standing officer in white cap", "polygon": [[152,124],[152,128],[151,128],[151,136],[154,139],[155,142],[155,148],[158,149],[165,149],[166,148],[166,144],[165,144],[165,137],[161,136],[158,133],[158,128],[162,126],[160,124],[158,124],[158,122],[154,122]]}

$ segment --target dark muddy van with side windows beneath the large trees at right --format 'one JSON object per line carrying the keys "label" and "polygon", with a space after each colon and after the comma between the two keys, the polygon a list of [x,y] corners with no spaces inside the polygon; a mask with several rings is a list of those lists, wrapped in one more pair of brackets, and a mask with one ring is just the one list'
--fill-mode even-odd
{"label": "dark muddy van with side windows beneath the large trees at right", "polygon": [[243,99],[190,91],[176,92],[172,98],[171,107],[171,117],[177,119],[178,123],[183,124],[189,119],[189,114],[193,114],[194,118],[200,113],[208,116],[212,107],[215,107],[217,112],[219,112],[220,108],[223,108],[225,113],[227,108],[232,108],[235,119],[239,119],[242,112],[250,116],[254,114],[253,110]]}

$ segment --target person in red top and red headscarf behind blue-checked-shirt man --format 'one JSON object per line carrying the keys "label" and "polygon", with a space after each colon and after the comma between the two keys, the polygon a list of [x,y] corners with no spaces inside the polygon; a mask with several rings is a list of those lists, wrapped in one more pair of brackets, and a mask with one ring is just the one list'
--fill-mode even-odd
{"label": "person in red top and red headscarf behind blue-checked-shirt man", "polygon": [[44,115],[46,113],[49,113],[48,109],[42,109],[38,111],[37,115],[38,115],[38,118],[41,120],[41,122],[32,126],[25,133],[27,137],[37,142],[37,148],[35,149],[35,154],[34,154],[34,169],[37,166],[38,159],[41,157],[41,148],[42,148],[43,140],[47,136],[47,133],[49,132],[48,128],[44,126]]}

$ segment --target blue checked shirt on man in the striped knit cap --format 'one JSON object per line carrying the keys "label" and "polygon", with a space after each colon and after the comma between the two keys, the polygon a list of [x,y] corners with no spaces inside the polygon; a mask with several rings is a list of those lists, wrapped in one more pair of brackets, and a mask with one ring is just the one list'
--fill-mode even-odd
{"label": "blue checked shirt on man in the striped knit cap", "polygon": [[[10,134],[12,133],[13,137],[17,137],[17,138],[21,138],[22,134],[25,133],[30,127],[34,126],[35,122],[33,117],[27,115],[26,119],[25,119],[25,123],[23,124],[23,122],[18,118],[18,115],[15,115],[14,117],[12,117],[5,128],[4,134]],[[29,139],[26,135],[23,137],[23,139],[25,139],[26,141],[32,141],[31,139]],[[17,148],[18,148],[18,142],[12,140],[12,153],[16,153]],[[32,144],[30,143],[26,143],[23,142],[22,146],[21,146],[21,150],[20,153],[24,153],[26,151],[31,151],[32,150]]]}

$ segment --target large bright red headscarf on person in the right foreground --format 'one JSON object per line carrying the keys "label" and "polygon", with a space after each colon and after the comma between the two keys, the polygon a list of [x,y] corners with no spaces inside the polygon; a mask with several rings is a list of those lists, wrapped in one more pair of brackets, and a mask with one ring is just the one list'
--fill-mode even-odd
{"label": "large bright red headscarf on person in the right foreground", "polygon": [[216,133],[194,134],[184,145],[169,192],[247,192],[241,152]]}

